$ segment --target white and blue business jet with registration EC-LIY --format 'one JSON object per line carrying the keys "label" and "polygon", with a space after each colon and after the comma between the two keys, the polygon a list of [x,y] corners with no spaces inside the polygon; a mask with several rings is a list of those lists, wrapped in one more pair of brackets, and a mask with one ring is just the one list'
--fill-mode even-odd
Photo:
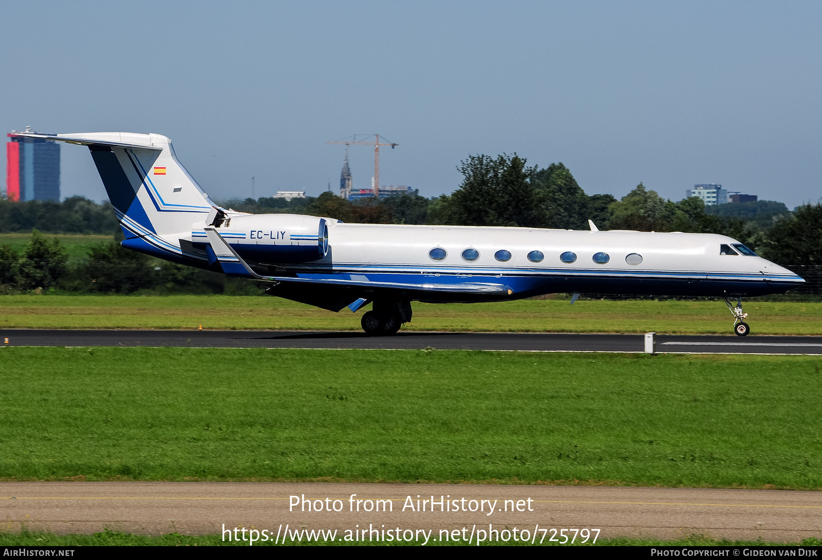
{"label": "white and blue business jet with registration EC-LIY", "polygon": [[[270,284],[266,294],[363,314],[368,334],[411,321],[411,302],[472,303],[540,294],[723,298],[746,336],[741,298],[783,294],[805,280],[723,235],[344,224],[311,215],[226,210],[159,134],[19,136],[88,146],[117,212],[122,246]],[[737,299],[734,305],[729,300]]]}

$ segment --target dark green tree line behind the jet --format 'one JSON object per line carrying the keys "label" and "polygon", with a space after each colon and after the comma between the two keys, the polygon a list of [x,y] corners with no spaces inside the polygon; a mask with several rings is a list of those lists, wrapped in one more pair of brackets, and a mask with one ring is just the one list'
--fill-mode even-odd
{"label": "dark green tree line behind the jet", "polygon": [[[319,197],[261,197],[222,201],[236,211],[321,215],[349,223],[520,226],[529,228],[681,231],[724,234],[763,257],[806,276],[806,291],[822,289],[822,204],[790,212],[781,202],[755,201],[704,206],[696,197],[671,201],[637,185],[617,200],[586,194],[561,163],[529,166],[518,155],[471,155],[459,165],[462,183],[450,195],[418,192],[376,200],[348,201],[333,192]],[[0,233],[39,229],[52,233],[112,234],[119,231],[108,202],[83,197],[58,202],[11,202],[0,198]],[[121,234],[122,235],[122,234]],[[64,251],[64,250],[63,250]],[[259,293],[248,282],[198,271],[127,251],[115,241],[90,248],[70,263],[56,239],[35,232],[23,254],[0,247],[0,286],[8,290],[65,289],[97,293]],[[801,270],[797,270],[800,267]]]}

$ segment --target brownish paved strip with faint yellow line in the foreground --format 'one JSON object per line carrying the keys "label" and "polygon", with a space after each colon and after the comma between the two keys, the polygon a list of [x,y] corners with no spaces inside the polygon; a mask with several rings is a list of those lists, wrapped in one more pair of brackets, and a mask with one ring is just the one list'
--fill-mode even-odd
{"label": "brownish paved strip with faint yellow line in the foreground", "polygon": [[[444,496],[446,503],[436,503],[432,511],[432,496],[435,502]],[[302,511],[303,499],[311,502],[312,511]],[[390,510],[375,511],[376,500],[390,500],[387,507],[382,502]],[[295,502],[300,505],[292,507]],[[317,506],[322,511],[315,511]],[[442,511],[446,507],[451,511]],[[477,511],[469,511],[472,508]],[[271,539],[278,530],[283,535],[289,525],[290,530],[336,529],[338,537],[344,530],[374,529],[382,535],[383,529],[399,528],[415,536],[417,530],[433,530],[430,539],[444,538],[440,530],[449,535],[458,530],[459,538],[467,540],[473,530],[473,544],[481,535],[478,530],[514,527],[528,530],[536,539],[550,539],[552,529],[557,530],[556,538],[561,538],[562,529],[588,529],[592,536],[598,529],[600,539],[709,535],[799,542],[822,537],[822,493],[485,484],[0,483],[2,530],[25,527],[90,534],[109,528],[148,535],[205,535],[221,532],[223,525],[230,530],[266,529]]]}

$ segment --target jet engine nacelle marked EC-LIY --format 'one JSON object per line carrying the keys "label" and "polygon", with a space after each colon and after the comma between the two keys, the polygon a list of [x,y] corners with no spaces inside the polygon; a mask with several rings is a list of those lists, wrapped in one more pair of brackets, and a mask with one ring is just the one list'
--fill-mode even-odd
{"label": "jet engine nacelle marked EC-LIY", "polygon": [[251,261],[307,262],[328,254],[328,224],[313,215],[233,215],[217,231]]}

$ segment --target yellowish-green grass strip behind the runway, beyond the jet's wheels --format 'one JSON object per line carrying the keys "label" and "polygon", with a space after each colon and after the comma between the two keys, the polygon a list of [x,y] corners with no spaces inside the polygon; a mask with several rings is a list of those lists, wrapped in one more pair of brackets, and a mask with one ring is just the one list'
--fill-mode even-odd
{"label": "yellowish-green grass strip behind the runway, beyond the jet's wheels", "polygon": [[[368,307],[370,308],[370,306]],[[367,309],[367,308],[366,308]],[[822,303],[746,301],[755,335],[822,335]],[[0,328],[266,329],[359,331],[360,311],[339,313],[274,297],[0,296]],[[541,299],[413,303],[406,331],[731,334],[721,300]]]}

